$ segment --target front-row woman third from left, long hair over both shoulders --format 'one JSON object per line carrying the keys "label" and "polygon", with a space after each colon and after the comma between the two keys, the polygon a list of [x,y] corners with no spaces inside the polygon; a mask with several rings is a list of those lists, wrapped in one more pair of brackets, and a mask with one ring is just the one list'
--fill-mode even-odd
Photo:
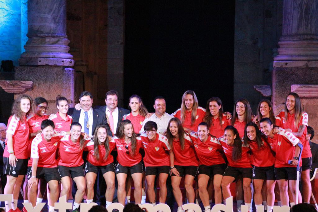
{"label": "front-row woman third from left, long hair over both shoulders", "polygon": [[106,207],[113,202],[115,192],[115,166],[114,158],[110,153],[114,148],[115,142],[114,140],[109,141],[107,127],[105,125],[97,126],[94,139],[88,142],[84,148],[85,151],[88,151],[87,162],[85,164],[87,203],[93,202],[94,183],[98,170],[102,172],[107,184],[105,194]]}

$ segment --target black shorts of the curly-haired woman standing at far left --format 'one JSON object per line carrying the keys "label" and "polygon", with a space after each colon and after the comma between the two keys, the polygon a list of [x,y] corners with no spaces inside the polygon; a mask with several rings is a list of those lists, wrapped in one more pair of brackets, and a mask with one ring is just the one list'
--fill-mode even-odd
{"label": "black shorts of the curly-haired woman standing at far left", "polygon": [[15,166],[11,166],[8,157],[3,157],[3,174],[18,177],[28,172],[28,159],[18,159]]}

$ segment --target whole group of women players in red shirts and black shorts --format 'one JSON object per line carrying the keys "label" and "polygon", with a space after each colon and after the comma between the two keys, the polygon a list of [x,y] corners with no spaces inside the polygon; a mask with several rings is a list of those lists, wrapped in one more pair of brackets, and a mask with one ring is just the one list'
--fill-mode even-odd
{"label": "whole group of women players in red shirts and black shorts", "polygon": [[[142,202],[145,178],[149,203],[155,205],[156,176],[160,187],[159,202],[164,203],[170,174],[177,211],[183,210],[180,190],[183,177],[188,202],[195,202],[193,183],[196,181],[206,212],[211,210],[209,188],[214,188],[215,203],[221,203],[222,199],[232,195],[230,185],[233,181],[240,181],[237,187],[243,188],[245,204],[251,207],[252,180],[255,205],[262,204],[262,188],[266,188],[267,211],[272,211],[276,182],[283,205],[288,205],[289,197],[295,199],[298,162],[300,166],[302,163],[303,200],[309,202],[311,152],[305,140],[308,114],[302,111],[296,93],[287,95],[285,110],[275,117],[272,104],[266,99],[259,103],[256,116],[246,99],[235,102],[231,115],[223,111],[217,97],[207,101],[206,109],[199,107],[195,92],[189,90],[183,94],[181,108],[173,113],[174,118],[169,121],[165,135],[156,133],[158,127],[153,121],[144,123],[141,129],[148,111],[141,98],[133,95],[129,99],[132,113],[120,122],[114,137],[107,135],[104,125],[96,127],[93,136],[81,133],[82,126],[78,122],[72,123],[72,117],[67,115],[68,102],[64,97],[57,98],[59,111],[50,116],[51,120],[45,115],[47,101],[40,97],[34,102],[28,95],[19,96],[8,121],[3,154],[8,181],[4,193],[13,194],[13,202],[12,209],[11,203],[6,202],[7,211],[16,209],[19,188],[26,173],[29,191],[26,191],[28,200],[25,197],[25,201],[35,206],[36,200],[43,198],[41,188],[45,183],[41,181],[45,179],[50,190],[50,212],[59,196],[59,181],[61,195],[68,196],[72,177],[77,186],[73,206],[76,211],[85,193],[86,202],[93,201],[98,171],[107,184],[106,206],[113,200],[115,176],[121,204],[125,204],[128,178],[134,183],[135,203]],[[144,132],[139,134],[140,130]],[[83,151],[88,151],[84,171]],[[110,154],[112,151],[117,151],[116,160]],[[31,158],[29,163],[28,158]],[[301,202],[301,195],[299,197]]]}

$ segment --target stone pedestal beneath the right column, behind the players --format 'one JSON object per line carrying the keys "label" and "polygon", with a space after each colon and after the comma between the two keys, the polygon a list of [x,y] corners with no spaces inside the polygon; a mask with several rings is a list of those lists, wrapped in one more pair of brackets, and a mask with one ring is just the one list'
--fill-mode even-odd
{"label": "stone pedestal beneath the right column, behind the players", "polygon": [[[318,85],[317,76],[318,67],[274,67],[272,76],[274,113],[278,114],[281,110],[284,110],[286,96],[291,92],[291,85]],[[297,93],[297,91],[295,92]],[[301,97],[301,104],[303,110],[309,115],[308,125],[318,132],[318,98]],[[317,140],[317,138],[314,140]]]}

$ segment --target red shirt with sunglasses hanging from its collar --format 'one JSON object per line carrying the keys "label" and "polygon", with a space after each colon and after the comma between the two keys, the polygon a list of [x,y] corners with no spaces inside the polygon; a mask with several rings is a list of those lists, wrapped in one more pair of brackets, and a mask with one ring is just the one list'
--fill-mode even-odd
{"label": "red shirt with sunglasses hanging from its collar", "polygon": [[[126,167],[132,167],[141,161],[142,156],[139,153],[139,149],[142,147],[141,140],[138,140],[138,139],[136,140],[136,150],[134,155],[132,155],[132,151],[131,151],[131,142],[129,144],[126,144],[124,138],[120,139],[120,138],[117,138],[116,136],[113,137],[113,140],[116,144],[117,161],[120,165],[126,166]],[[129,154],[126,153],[127,152],[126,146],[128,146]]]}

